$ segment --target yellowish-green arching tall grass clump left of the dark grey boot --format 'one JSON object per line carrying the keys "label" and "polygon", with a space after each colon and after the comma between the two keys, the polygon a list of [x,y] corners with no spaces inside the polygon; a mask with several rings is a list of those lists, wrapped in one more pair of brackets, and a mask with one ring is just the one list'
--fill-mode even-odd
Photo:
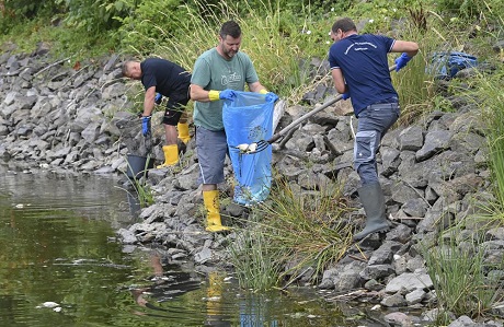
{"label": "yellowish-green arching tall grass clump left of the dark grey boot", "polygon": [[341,188],[334,183],[311,191],[295,190],[283,178],[273,188],[270,199],[253,211],[262,218],[261,233],[268,246],[283,249],[276,260],[289,268],[279,278],[296,279],[310,267],[317,280],[352,243],[351,225],[342,220],[348,208]]}

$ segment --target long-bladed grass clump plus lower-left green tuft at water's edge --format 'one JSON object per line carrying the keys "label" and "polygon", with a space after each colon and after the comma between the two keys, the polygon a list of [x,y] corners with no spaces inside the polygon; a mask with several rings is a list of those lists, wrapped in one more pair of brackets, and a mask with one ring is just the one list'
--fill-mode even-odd
{"label": "long-bladed grass clump plus lower-left green tuft at water's edge", "polygon": [[239,231],[238,245],[231,245],[241,285],[282,287],[306,271],[316,281],[352,243],[352,226],[342,220],[347,210],[337,184],[300,192],[276,179],[268,200],[252,209],[252,219]]}

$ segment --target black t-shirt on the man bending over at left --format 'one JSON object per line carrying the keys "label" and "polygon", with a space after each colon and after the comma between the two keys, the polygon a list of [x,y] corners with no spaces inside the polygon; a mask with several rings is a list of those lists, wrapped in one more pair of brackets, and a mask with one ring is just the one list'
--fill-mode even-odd
{"label": "black t-shirt on the man bending over at left", "polygon": [[170,97],[172,93],[187,92],[191,73],[165,59],[148,58],[140,62],[141,83],[146,91],[156,86],[156,92]]}

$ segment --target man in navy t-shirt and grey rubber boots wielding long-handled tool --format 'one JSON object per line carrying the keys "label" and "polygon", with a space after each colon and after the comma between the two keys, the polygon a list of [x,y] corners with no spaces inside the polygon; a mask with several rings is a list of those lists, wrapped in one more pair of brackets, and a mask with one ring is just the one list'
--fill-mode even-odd
{"label": "man in navy t-shirt and grey rubber boots wielding long-handled tool", "polygon": [[359,35],[348,17],[334,23],[331,38],[334,44],[329,50],[329,62],[335,89],[343,95],[343,100],[352,100],[358,118],[354,168],[360,177],[358,195],[367,217],[364,230],[354,235],[354,240],[359,241],[371,233],[389,229],[376,153],[381,138],[399,118],[400,108],[387,55],[402,52],[396,59],[396,71],[399,71],[416,55],[419,45],[382,35]]}

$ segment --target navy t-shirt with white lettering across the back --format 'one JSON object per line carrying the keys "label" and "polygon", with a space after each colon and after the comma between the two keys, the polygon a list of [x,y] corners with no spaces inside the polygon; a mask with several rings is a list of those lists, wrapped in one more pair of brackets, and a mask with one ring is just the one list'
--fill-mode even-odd
{"label": "navy t-shirt with white lettering across the back", "polygon": [[396,40],[374,34],[354,34],[329,49],[331,69],[341,69],[348,86],[354,113],[390,97],[397,97],[387,60]]}

